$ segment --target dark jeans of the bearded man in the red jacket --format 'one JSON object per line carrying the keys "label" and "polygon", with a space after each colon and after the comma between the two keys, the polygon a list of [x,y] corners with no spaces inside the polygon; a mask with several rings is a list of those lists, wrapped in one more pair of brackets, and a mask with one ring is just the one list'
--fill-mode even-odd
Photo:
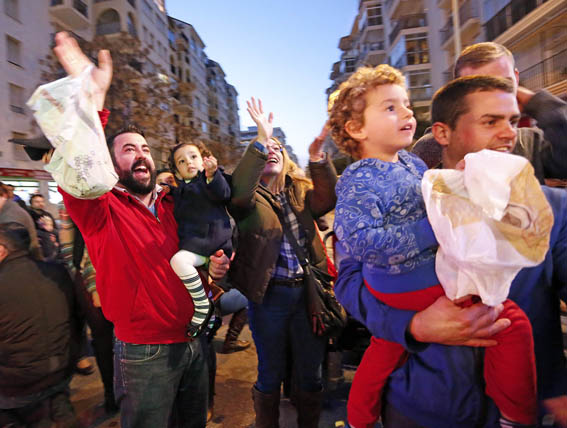
{"label": "dark jeans of the bearded man in the red jacket", "polygon": [[158,345],[116,340],[114,391],[123,428],[204,428],[207,389],[200,340]]}

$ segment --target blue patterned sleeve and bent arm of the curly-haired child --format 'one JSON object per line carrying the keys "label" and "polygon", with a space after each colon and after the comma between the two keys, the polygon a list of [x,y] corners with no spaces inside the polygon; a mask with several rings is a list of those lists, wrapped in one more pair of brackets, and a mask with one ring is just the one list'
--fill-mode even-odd
{"label": "blue patterned sleeve and bent arm of the curly-haired child", "polygon": [[360,168],[355,176],[341,183],[337,191],[335,233],[341,248],[355,260],[378,266],[404,263],[437,245],[433,229],[423,217],[408,223],[385,226],[380,195],[369,187],[366,172]]}

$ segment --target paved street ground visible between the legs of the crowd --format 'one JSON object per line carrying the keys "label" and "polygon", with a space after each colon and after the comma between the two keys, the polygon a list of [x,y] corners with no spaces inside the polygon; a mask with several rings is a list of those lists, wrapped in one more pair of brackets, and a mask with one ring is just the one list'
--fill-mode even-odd
{"label": "paved street ground visible between the legs of the crowd", "polygon": [[[217,333],[214,341],[216,349],[222,346],[228,320]],[[252,340],[248,326],[244,328],[241,338]],[[94,358],[92,358],[94,364]],[[256,349],[249,349],[234,354],[217,353],[217,380],[213,420],[207,425],[211,428],[249,427],[254,422],[254,411],[250,389],[256,379]],[[339,421],[345,420],[346,397],[353,370],[344,370],[346,380],[339,382],[337,388],[327,393],[323,414],[319,426],[321,428],[340,427]],[[75,376],[71,383],[72,401],[85,428],[119,428],[118,415],[107,418],[100,407],[103,401],[102,383],[98,371],[91,376]],[[283,399],[280,405],[280,427],[295,428],[296,412],[289,400]],[[156,427],[159,428],[159,427]]]}

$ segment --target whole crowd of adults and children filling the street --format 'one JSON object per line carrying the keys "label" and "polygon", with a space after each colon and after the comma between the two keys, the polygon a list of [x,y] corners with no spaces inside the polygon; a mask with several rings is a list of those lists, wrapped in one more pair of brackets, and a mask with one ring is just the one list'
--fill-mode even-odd
{"label": "whole crowd of adults and children filling the street", "polygon": [[[71,36],[55,42],[68,75],[92,66]],[[99,121],[89,129],[103,139],[112,120],[107,51],[89,79]],[[328,338],[306,311],[295,246],[331,272],[317,221],[336,207],[335,293],[373,335],[352,384],[350,426],[567,427],[567,191],[541,186],[554,218],[545,260],[520,270],[508,300],[489,306],[446,296],[421,189],[428,168],[463,169],[464,157],[483,149],[527,158],[541,183],[566,179],[564,101],[520,87],[503,46],[473,45],[435,94],[432,127],[414,145],[402,74],[363,67],[333,95],[329,121],[309,146],[308,174],[273,137],[262,102],[252,98],[248,113],[258,136],[232,174],[193,140],[179,142],[169,168],[157,171],[132,124],[80,166],[65,156],[84,149],[81,139],[46,150],[47,164],[64,160],[50,165],[63,177],[59,220],[42,195],[28,208],[13,187],[0,187],[0,426],[79,426],[69,381],[93,370],[83,358],[86,320],[104,408],[120,411],[122,427],[204,427],[214,405],[211,338],[219,318],[234,313],[223,352],[250,346],[238,340],[249,318],[255,426],[279,426],[291,362],[298,426],[317,427]],[[521,114],[538,127],[518,128]],[[327,133],[354,159],[339,179],[322,151]],[[88,170],[108,157],[112,168]]]}

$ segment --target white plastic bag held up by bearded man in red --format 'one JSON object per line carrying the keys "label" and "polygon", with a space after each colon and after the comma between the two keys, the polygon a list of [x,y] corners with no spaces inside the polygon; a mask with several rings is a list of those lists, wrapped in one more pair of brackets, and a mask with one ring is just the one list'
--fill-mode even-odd
{"label": "white plastic bag held up by bearded man in red", "polygon": [[42,85],[27,102],[55,148],[45,169],[80,199],[97,198],[118,182],[93,101],[91,70]]}

